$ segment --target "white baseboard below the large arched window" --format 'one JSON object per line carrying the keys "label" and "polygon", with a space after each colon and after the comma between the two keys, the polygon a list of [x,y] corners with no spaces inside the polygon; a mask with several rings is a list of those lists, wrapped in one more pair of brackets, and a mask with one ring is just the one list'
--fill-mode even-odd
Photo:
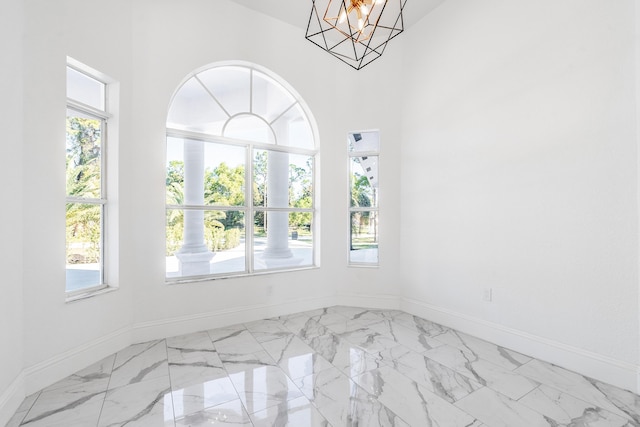
{"label": "white baseboard below the large arched window", "polygon": [[187,316],[139,322],[133,326],[133,342],[145,342],[197,331],[313,310],[336,304],[333,296],[254,304]]}

